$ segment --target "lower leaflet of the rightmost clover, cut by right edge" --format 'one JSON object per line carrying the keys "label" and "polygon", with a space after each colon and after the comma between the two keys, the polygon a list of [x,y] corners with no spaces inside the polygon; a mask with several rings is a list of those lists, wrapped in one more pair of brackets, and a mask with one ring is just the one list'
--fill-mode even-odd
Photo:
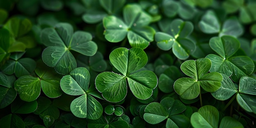
{"label": "lower leaflet of the rightmost clover, cut by right edge", "polygon": [[241,106],[247,112],[253,112],[256,114],[256,97],[249,94],[240,94],[236,95],[236,101],[239,106]]}

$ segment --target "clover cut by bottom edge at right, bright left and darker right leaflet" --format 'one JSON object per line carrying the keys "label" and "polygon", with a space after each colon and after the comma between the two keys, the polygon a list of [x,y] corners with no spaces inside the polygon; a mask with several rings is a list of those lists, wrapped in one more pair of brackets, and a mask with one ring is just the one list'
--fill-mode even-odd
{"label": "clover cut by bottom edge at right, bright left and darker right leaflet", "polygon": [[243,128],[243,125],[232,117],[223,117],[219,125],[220,117],[215,107],[207,105],[199,108],[198,112],[194,112],[190,122],[194,128]]}

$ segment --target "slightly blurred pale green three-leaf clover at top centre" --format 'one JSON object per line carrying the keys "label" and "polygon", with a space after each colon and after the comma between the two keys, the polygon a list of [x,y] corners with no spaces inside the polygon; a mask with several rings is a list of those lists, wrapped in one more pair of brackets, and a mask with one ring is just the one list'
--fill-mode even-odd
{"label": "slightly blurred pale green three-leaf clover at top centre", "polygon": [[137,4],[126,5],[123,13],[124,20],[116,16],[103,18],[105,38],[110,42],[120,42],[127,36],[132,47],[148,47],[155,34],[155,30],[148,26],[151,17]]}

